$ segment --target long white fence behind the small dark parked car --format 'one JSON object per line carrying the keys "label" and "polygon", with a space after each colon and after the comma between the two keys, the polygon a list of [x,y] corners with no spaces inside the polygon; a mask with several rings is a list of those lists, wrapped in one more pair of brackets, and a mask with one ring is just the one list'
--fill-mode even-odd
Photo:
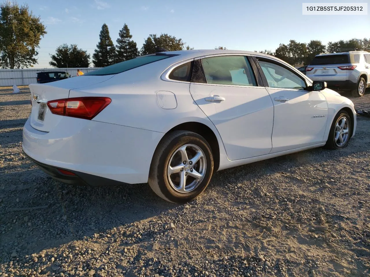
{"label": "long white fence behind the small dark parked car", "polygon": [[72,76],[77,75],[77,69],[87,73],[98,69],[98,67],[88,68],[23,68],[23,69],[0,69],[0,86],[26,86],[36,83],[37,72],[46,71],[67,71]]}

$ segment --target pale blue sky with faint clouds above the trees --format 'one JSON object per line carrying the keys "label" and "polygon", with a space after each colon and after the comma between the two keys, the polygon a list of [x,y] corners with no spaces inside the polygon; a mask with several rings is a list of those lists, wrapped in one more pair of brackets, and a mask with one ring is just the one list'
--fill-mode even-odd
{"label": "pale blue sky with faint clouds above the trees", "polygon": [[326,44],[370,37],[370,13],[363,16],[302,15],[302,1],[297,0],[27,2],[33,14],[41,17],[47,31],[39,45],[35,68],[50,68],[49,54],[54,54],[64,43],[77,44],[92,56],[104,23],[108,25],[114,44],[126,23],[139,49],[149,34],[161,33],[182,38],[186,45],[195,49],[223,46],[246,51],[274,51],[280,43],[287,44],[289,40],[321,40]]}

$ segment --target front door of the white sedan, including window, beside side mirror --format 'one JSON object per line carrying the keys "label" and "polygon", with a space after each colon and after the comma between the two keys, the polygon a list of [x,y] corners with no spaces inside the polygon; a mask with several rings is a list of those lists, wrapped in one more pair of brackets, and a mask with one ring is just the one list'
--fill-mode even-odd
{"label": "front door of the white sedan, including window, beside side mirror", "polygon": [[327,101],[320,91],[309,91],[303,76],[274,59],[257,57],[274,105],[270,153],[323,142]]}

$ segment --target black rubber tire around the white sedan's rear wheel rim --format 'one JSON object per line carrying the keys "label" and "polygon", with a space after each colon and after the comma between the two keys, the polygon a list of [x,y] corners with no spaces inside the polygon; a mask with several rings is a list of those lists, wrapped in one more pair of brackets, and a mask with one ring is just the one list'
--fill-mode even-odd
{"label": "black rubber tire around the white sedan's rear wheel rim", "polygon": [[[203,172],[204,177],[200,183],[196,182],[198,185],[196,185],[194,190],[189,192],[178,192],[172,187],[169,181],[167,168],[172,155],[176,153],[179,147],[185,146],[186,144],[195,145],[203,151],[206,166]],[[155,150],[150,167],[148,183],[155,194],[166,201],[185,203],[196,198],[207,188],[212,178],[213,166],[211,147],[202,136],[190,131],[173,131],[165,135]]]}

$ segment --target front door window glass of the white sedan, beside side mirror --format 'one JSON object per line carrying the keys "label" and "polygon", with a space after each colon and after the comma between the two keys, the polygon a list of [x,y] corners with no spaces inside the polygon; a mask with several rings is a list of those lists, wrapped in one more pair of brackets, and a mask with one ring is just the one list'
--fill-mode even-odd
{"label": "front door window glass of the white sedan, beside side mirror", "polygon": [[259,61],[259,64],[270,88],[301,90],[306,88],[306,82],[289,69],[267,61]]}

